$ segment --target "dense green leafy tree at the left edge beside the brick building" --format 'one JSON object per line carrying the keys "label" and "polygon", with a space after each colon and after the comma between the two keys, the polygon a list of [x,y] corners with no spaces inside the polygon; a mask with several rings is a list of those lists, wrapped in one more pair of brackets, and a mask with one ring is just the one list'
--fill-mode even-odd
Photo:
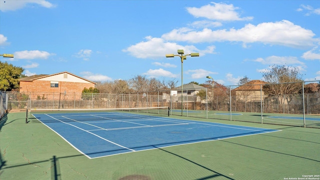
{"label": "dense green leafy tree at the left edge beside the brick building", "polygon": [[0,61],[0,90],[18,90],[19,78],[23,77],[23,68]]}

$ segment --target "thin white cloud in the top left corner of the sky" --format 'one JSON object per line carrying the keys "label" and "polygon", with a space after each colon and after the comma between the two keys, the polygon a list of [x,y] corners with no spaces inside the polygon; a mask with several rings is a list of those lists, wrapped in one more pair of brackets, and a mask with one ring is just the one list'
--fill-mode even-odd
{"label": "thin white cloud in the top left corner of the sky", "polygon": [[1,0],[0,10],[9,11],[24,8],[27,4],[38,4],[42,7],[52,8],[55,7],[54,4],[48,2],[47,0]]}

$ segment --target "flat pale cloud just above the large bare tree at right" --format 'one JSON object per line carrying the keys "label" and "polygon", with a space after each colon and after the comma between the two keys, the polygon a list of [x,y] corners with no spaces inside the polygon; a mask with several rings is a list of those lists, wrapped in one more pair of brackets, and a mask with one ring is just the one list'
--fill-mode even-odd
{"label": "flat pale cloud just above the large bare tree at right", "polygon": [[262,64],[279,64],[279,65],[284,65],[284,64],[303,64],[303,62],[299,61],[297,57],[294,56],[275,56],[271,55],[266,57],[265,59],[259,57],[253,60],[255,62],[260,62]]}

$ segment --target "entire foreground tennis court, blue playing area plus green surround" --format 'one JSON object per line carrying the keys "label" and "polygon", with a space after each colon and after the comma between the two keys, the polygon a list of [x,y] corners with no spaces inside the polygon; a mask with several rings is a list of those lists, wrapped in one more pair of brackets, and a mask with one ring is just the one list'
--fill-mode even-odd
{"label": "entire foreground tennis court, blue playing area plus green surround", "polygon": [[284,179],[320,168],[318,128],[163,113],[32,113],[38,120],[25,123],[26,113],[15,112],[0,121],[0,179]]}

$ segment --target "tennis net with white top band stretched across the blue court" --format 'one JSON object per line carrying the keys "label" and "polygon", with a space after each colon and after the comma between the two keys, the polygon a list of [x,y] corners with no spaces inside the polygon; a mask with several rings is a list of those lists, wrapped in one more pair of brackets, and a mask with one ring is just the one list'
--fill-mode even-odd
{"label": "tennis net with white top band stretched across the blue court", "polygon": [[169,116],[169,107],[44,109],[26,111],[25,122],[90,121],[106,119],[143,119]]}

